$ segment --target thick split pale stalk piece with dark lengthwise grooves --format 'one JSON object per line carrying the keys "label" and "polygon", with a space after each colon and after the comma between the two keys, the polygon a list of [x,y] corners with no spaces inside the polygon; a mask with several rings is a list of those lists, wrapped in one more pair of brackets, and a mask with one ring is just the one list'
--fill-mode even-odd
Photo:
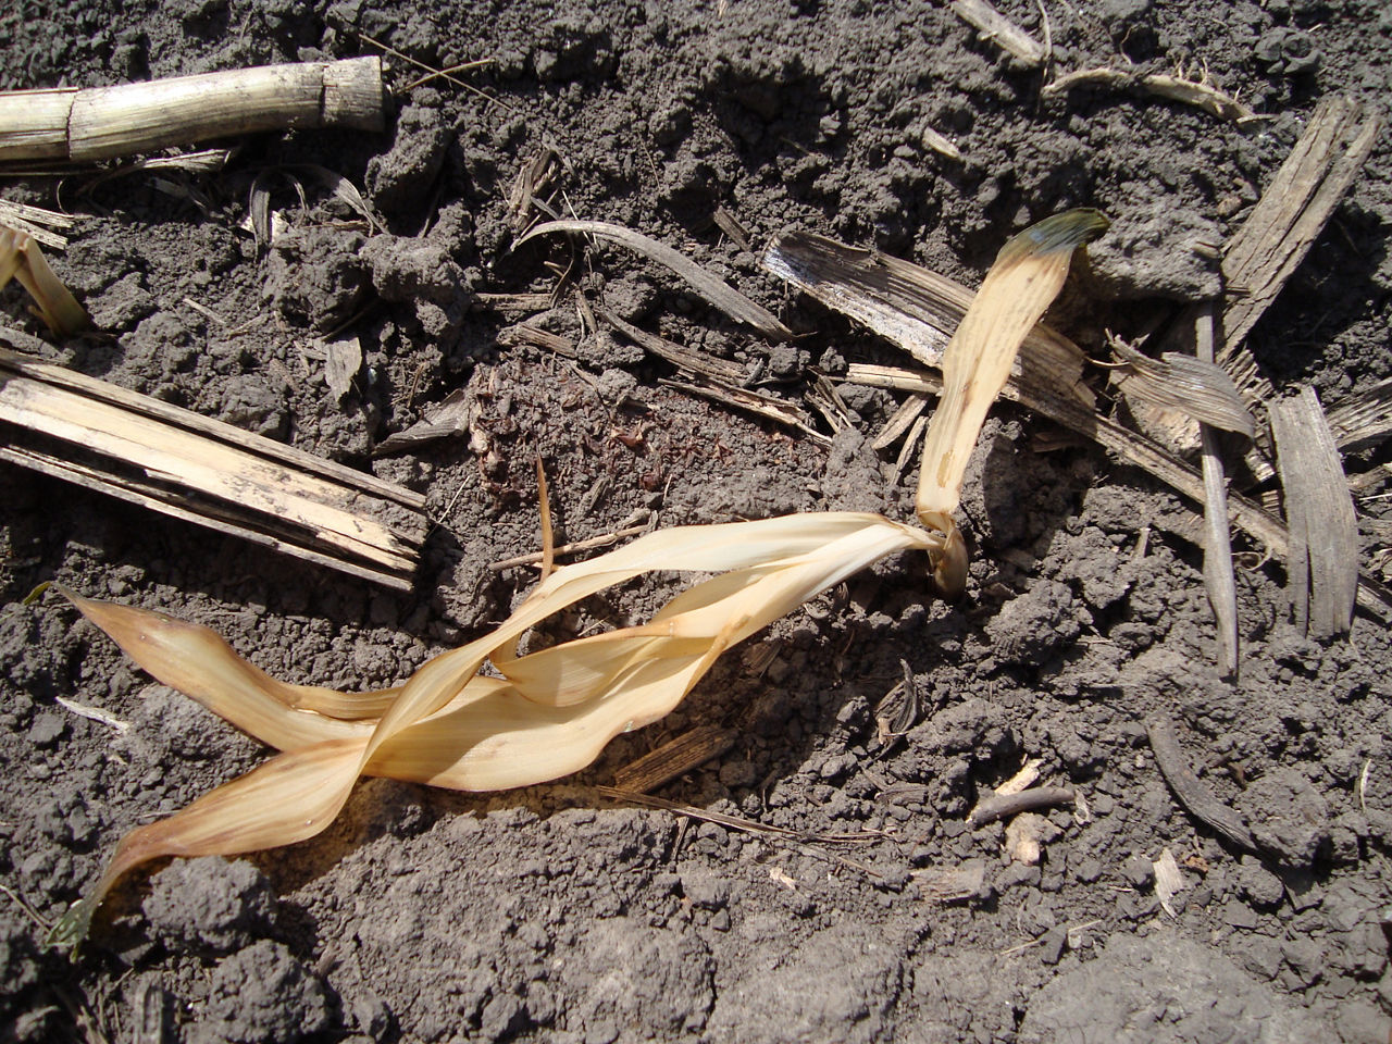
{"label": "thick split pale stalk piece with dark lengthwise grooves", "polygon": [[394,483],[0,349],[0,458],[409,590],[429,522]]}

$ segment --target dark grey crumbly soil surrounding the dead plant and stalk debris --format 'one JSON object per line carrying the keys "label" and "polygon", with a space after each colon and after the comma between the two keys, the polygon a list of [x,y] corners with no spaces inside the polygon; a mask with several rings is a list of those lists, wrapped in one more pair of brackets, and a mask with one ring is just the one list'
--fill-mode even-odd
{"label": "dark grey crumbly soil surrounding the dead plant and stalk debris", "polygon": [[[1303,639],[1281,569],[1242,544],[1242,681],[1224,681],[1200,553],[1164,525],[1179,501],[1100,451],[1043,451],[1059,433],[1008,405],[969,476],[963,603],[934,601],[920,561],[891,561],[727,656],[677,713],[574,780],[497,795],[363,782],[313,841],[136,874],[75,963],[40,951],[36,922],[125,831],[266,752],[152,685],[71,610],[21,607],[36,583],[209,624],[291,681],[366,688],[528,590],[535,574],[490,564],[537,547],[536,454],[564,540],[827,507],[908,518],[912,469],[888,487],[896,447],[867,444],[889,393],[848,387],[859,423],[828,450],[667,387],[665,363],[582,330],[576,284],[798,402],[813,366],[903,359],[786,295],[714,224],[717,206],[754,251],[791,226],[973,285],[1023,224],[1098,206],[1116,232],[1094,267],[1119,301],[1070,331],[1100,355],[1104,324],[1136,334],[1169,301],[1212,292],[1211,263],[1183,245],[1242,223],[1321,96],[1388,97],[1392,17],[1375,0],[1044,7],[1061,71],[1183,65],[1270,118],[1236,127],[1125,92],[1041,99],[1038,71],[923,3],[0,11],[3,88],[376,53],[366,38],[434,67],[493,61],[459,74],[475,89],[406,92],[387,134],[263,135],[213,177],[6,180],[10,198],[86,216],[53,264],[104,335],[53,345],[53,359],[422,490],[434,529],[404,596],[0,466],[0,1037],[1386,1041],[1385,628],[1360,617],[1346,642]],[[1044,35],[1036,4],[1004,10]],[[416,75],[395,63],[400,85]],[[926,127],[965,159],[933,152]],[[480,295],[550,291],[544,262],[571,258],[560,239],[509,252],[507,196],[544,148],[561,157],[560,212],[679,246],[803,335],[791,349],[752,338],[606,248],[530,319],[578,358],[501,347],[525,316]],[[306,163],[359,185],[387,231],[302,173],[301,206],[277,171]],[[244,227],[262,174],[284,223],[269,249]],[[1389,223],[1384,145],[1250,338],[1278,388],[1313,383],[1328,405],[1386,376]],[[36,331],[17,287],[0,303]],[[316,349],[345,323],[366,359],[338,400]],[[372,458],[458,388],[475,402],[468,434]],[[1381,461],[1385,447],[1349,465]],[[1385,493],[1359,505],[1368,569],[1388,562]],[[671,590],[651,582],[589,611],[622,619]],[[905,672],[920,717],[883,746],[876,707]],[[1260,856],[1176,805],[1146,738],[1153,713],[1253,824]],[[596,795],[697,722],[739,739],[661,795],[809,841]],[[1037,864],[1012,857],[1006,824],[966,821],[1029,759],[1087,806],[1036,823]],[[827,831],[870,839],[814,839]],[[1186,885],[1173,913],[1154,888],[1165,849]],[[942,902],[935,883],[963,869],[979,884]]]}

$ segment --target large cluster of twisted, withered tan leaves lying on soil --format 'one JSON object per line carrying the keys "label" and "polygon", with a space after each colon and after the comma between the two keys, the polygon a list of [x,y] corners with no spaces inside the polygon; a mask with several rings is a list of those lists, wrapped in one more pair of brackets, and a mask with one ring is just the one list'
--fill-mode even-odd
{"label": "large cluster of twisted, withered tan leaves lying on soil", "polygon": [[[430,660],[400,689],[362,695],[277,682],[207,628],[64,592],[157,679],[283,753],[131,831],[53,941],[79,941],[110,887],[150,859],[313,837],[359,775],[487,791],[578,771],[612,736],[672,710],[729,646],[888,554],[941,546],[937,535],[853,512],[658,530],[557,569],[489,635]],[[674,569],[718,575],[644,625],[515,654],[522,633],[554,612]],[[489,661],[503,677],[480,674]]]}

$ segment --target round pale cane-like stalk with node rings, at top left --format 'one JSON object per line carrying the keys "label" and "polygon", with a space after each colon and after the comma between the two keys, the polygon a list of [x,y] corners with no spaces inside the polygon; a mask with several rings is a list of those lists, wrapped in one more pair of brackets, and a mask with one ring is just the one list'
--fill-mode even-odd
{"label": "round pale cane-like stalk with node rings, at top left", "polygon": [[347,127],[380,131],[381,60],[305,61],[148,84],[0,93],[0,163],[92,163],[212,138]]}

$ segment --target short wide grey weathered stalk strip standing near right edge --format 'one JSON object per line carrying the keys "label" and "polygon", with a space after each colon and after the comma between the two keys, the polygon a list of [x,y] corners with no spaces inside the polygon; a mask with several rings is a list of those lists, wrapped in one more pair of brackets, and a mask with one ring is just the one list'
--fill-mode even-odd
{"label": "short wide grey weathered stalk strip standing near right edge", "polygon": [[1359,523],[1343,464],[1314,388],[1270,406],[1290,544],[1286,572],[1296,625],[1345,635],[1359,592]]}

